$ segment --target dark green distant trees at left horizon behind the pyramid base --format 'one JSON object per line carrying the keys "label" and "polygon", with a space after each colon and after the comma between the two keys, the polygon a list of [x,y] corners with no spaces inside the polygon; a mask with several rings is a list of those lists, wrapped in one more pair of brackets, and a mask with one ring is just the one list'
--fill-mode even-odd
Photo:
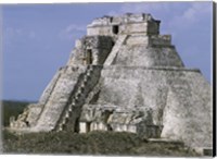
{"label": "dark green distant trees at left horizon behind the pyramid base", "polygon": [[21,114],[26,106],[30,103],[28,101],[15,101],[15,100],[2,100],[1,101],[1,118],[3,126],[9,126],[10,117],[14,115],[15,118]]}

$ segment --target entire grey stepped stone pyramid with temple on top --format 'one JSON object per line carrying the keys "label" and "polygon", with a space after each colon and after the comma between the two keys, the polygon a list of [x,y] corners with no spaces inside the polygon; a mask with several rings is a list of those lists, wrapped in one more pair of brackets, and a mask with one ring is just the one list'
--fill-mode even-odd
{"label": "entire grey stepped stone pyramid with temple on top", "polygon": [[213,147],[210,85],[187,69],[150,14],[103,16],[87,26],[38,103],[9,130],[131,132]]}

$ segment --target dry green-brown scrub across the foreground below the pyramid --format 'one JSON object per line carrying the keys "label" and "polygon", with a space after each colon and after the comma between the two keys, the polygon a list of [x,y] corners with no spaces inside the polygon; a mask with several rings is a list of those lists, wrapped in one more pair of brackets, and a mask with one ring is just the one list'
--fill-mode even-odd
{"label": "dry green-brown scrub across the foreground below the pyramid", "polygon": [[111,156],[197,156],[175,144],[157,144],[126,132],[30,133],[15,135],[3,131],[4,154],[111,155]]}

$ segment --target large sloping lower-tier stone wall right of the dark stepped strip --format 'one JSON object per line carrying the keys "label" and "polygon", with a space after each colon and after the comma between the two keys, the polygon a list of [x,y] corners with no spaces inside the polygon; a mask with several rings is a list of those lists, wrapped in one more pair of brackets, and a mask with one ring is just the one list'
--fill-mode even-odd
{"label": "large sloping lower-tier stone wall right of the dark stepped strip", "polygon": [[212,146],[210,89],[199,70],[104,66],[100,82],[98,105],[149,107],[162,137]]}

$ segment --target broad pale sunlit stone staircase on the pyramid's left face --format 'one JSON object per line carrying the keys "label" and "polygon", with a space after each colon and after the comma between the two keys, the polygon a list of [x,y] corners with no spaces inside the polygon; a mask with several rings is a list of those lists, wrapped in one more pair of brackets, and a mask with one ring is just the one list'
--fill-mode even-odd
{"label": "broad pale sunlit stone staircase on the pyramid's left face", "polygon": [[65,66],[59,77],[53,91],[46,102],[40,118],[33,131],[48,132],[55,127],[62,111],[64,110],[72,91],[75,89],[79,76],[87,66]]}

